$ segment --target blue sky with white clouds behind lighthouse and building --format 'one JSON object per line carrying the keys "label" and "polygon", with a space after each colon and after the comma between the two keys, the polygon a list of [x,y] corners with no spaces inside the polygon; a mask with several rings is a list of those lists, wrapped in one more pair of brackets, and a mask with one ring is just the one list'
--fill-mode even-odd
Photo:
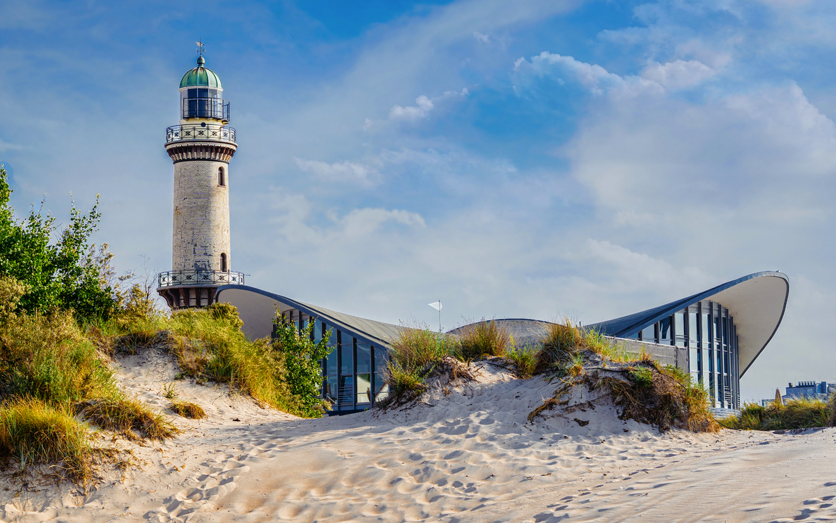
{"label": "blue sky with white clouds behind lighthouse and building", "polygon": [[[23,213],[101,196],[120,269],[171,266],[177,86],[232,101],[232,269],[447,327],[592,323],[758,270],[788,312],[746,399],[836,381],[836,6],[817,0],[0,0]],[[771,392],[772,391],[772,392]]]}

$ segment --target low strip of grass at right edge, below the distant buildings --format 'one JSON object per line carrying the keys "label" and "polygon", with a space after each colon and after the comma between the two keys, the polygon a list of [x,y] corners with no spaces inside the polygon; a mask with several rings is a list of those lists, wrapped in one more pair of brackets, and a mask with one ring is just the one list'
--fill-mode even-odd
{"label": "low strip of grass at right edge, below the distant buildings", "polygon": [[770,403],[762,407],[745,403],[739,416],[722,418],[727,428],[742,430],[792,430],[795,428],[836,426],[836,395],[828,403],[819,399],[793,398],[787,403]]}

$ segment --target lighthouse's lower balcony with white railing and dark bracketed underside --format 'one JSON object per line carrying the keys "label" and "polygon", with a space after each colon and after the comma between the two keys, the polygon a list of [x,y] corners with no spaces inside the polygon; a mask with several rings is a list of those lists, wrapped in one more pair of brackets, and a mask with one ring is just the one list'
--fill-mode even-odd
{"label": "lighthouse's lower balcony with white railing and dark bracketed underside", "polygon": [[157,275],[157,292],[172,309],[206,307],[221,285],[244,285],[244,274],[220,270],[169,270]]}

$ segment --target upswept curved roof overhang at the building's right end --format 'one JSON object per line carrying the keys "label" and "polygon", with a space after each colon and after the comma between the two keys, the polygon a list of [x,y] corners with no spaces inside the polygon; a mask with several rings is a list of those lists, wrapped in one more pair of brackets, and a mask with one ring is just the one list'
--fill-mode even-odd
{"label": "upswept curved roof overhang at the building's right end", "polygon": [[589,327],[597,328],[607,336],[632,336],[677,310],[699,301],[716,301],[729,310],[737,326],[737,351],[740,375],[743,376],[775,336],[787,310],[788,297],[787,274],[765,271],[734,279],[682,300]]}

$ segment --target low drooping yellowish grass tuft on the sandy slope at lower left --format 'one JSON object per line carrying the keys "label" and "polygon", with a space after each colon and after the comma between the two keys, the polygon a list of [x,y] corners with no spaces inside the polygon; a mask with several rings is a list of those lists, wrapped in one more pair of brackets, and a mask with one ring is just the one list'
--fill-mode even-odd
{"label": "low drooping yellowish grass tuft on the sandy slope at lower left", "polygon": [[90,400],[76,405],[81,418],[105,430],[121,433],[125,438],[162,440],[180,433],[162,413],[154,413],[145,403],[133,398]]}

